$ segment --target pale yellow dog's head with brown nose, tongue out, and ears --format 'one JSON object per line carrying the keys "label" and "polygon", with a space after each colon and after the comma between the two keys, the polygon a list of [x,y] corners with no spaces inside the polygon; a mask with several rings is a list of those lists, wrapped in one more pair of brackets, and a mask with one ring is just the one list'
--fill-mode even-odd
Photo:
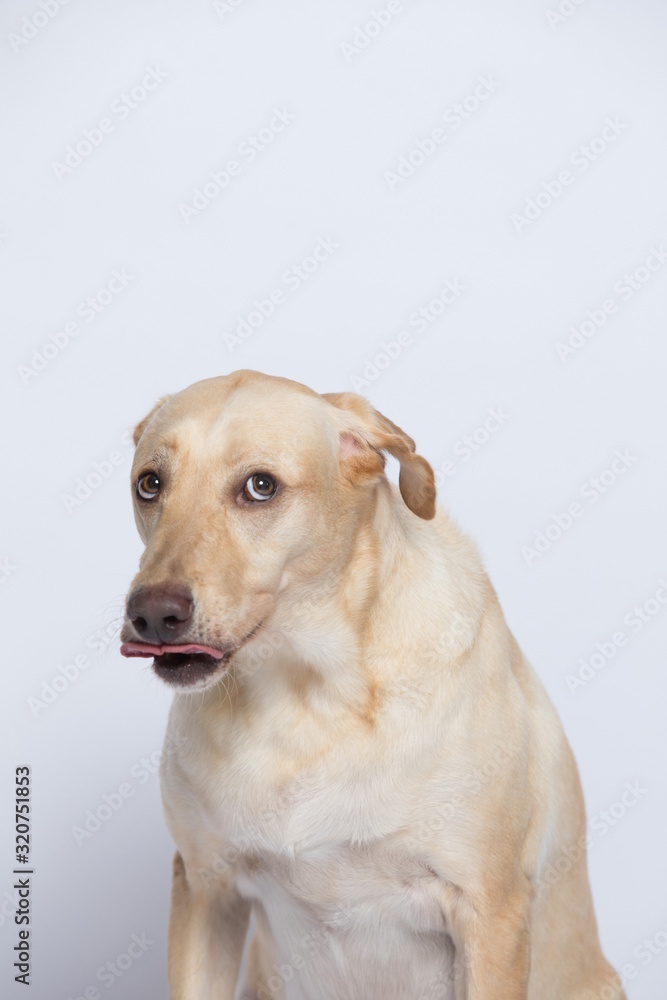
{"label": "pale yellow dog's head with brown nose, tongue out, and ears", "polygon": [[290,593],[342,578],[378,491],[389,489],[385,451],[400,462],[407,507],[435,513],[428,462],[353,393],[234,372],[160,400],[134,441],[146,549],[121,649],[153,656],[158,676],[181,689],[219,680]]}

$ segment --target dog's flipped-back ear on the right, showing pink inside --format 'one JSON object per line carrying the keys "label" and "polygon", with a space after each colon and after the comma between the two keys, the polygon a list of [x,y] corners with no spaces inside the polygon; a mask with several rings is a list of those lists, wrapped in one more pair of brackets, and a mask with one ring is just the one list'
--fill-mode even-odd
{"label": "dog's flipped-back ear on the right, showing pink inside", "polygon": [[367,399],[354,392],[326,392],[323,398],[342,410],[345,420],[340,437],[340,460],[353,481],[377,476],[384,470],[383,451],[401,465],[398,487],[406,504],[419,517],[435,514],[435,477],[425,458],[415,452],[411,437],[374,410]]}

